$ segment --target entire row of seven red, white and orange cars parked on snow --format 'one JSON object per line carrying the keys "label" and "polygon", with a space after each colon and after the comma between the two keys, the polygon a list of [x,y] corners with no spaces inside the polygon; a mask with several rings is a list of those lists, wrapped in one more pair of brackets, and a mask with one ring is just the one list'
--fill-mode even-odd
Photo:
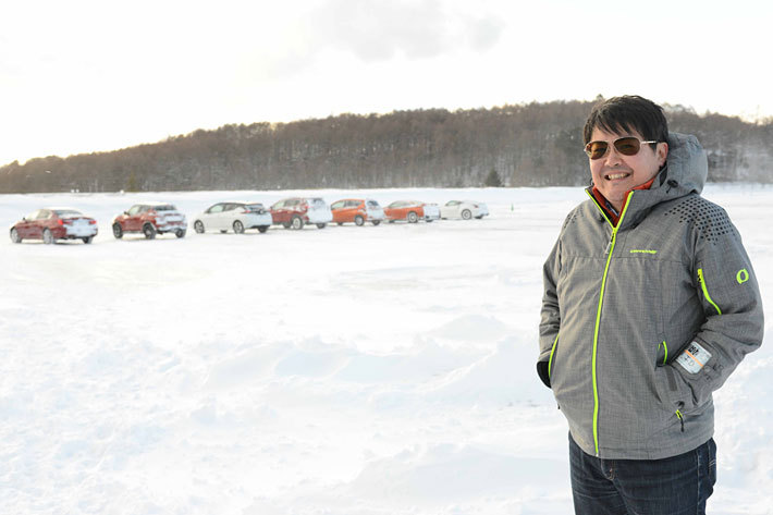
{"label": "entire row of seven red, white and orange cars parked on snow", "polygon": [[[339,225],[354,223],[364,225],[370,222],[378,225],[382,221],[393,223],[419,220],[432,222],[439,219],[483,218],[489,208],[483,203],[471,200],[450,200],[444,206],[418,200],[396,200],[385,208],[370,198],[345,198],[330,206],[320,197],[291,197],[279,200],[268,210],[257,201],[218,203],[194,218],[194,230],[203,234],[207,231],[244,233],[247,229],[257,229],[263,233],[271,225],[285,229],[303,229],[315,224],[324,229],[328,223]],[[169,203],[135,204],[112,222],[113,236],[122,238],[127,233],[142,233],[152,240],[157,234],[172,233],[184,237],[187,232],[187,219],[184,213]],[[54,243],[57,240],[82,240],[91,243],[98,233],[97,221],[72,208],[38,209],[11,226],[11,241],[42,240]]]}

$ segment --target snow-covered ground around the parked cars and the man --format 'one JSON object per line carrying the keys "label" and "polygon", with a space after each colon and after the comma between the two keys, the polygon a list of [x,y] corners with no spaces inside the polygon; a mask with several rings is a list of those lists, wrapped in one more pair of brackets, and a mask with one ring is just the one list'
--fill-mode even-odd
{"label": "snow-covered ground around the parked cars and the man", "polygon": [[[138,200],[191,222],[295,193],[0,196],[3,228],[56,205],[100,229],[91,245],[0,238],[1,513],[572,512],[566,422],[533,363],[541,266],[581,188],[314,192],[489,204],[466,222],[110,232]],[[704,196],[770,310],[773,188]],[[710,513],[773,513],[772,353],[715,395]]]}

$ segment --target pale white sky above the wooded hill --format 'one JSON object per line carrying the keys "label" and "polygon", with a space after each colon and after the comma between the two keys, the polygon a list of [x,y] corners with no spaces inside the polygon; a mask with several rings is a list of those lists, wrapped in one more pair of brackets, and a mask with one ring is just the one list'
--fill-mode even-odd
{"label": "pale white sky above the wooded hill", "polygon": [[599,94],[773,115],[773,2],[10,3],[0,164],[226,123]]}

